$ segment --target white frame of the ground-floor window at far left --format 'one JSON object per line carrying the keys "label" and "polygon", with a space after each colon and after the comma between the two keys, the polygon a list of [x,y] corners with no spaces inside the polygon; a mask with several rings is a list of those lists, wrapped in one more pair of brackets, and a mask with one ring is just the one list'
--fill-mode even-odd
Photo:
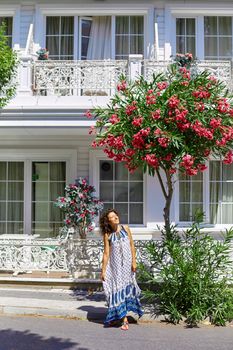
{"label": "white frame of the ground-floor window at far left", "polygon": [[4,150],[0,161],[24,162],[24,233],[31,234],[32,227],[32,163],[35,161],[66,162],[66,182],[72,183],[77,176],[77,151],[61,150]]}

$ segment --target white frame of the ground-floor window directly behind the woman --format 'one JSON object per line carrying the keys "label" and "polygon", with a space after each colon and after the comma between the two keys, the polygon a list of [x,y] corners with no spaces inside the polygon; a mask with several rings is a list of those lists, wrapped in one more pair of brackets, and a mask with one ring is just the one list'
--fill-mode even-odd
{"label": "white frame of the ground-floor window directly behind the woman", "polygon": [[[112,160],[109,159],[106,154],[100,150],[90,150],[89,153],[89,177],[90,177],[90,183],[95,187],[96,189],[96,196],[99,197],[100,189],[100,173],[99,173],[99,162],[100,160]],[[143,228],[146,225],[145,221],[145,213],[146,213],[146,176],[143,174],[143,223],[142,224],[130,224],[131,227],[138,227]]]}

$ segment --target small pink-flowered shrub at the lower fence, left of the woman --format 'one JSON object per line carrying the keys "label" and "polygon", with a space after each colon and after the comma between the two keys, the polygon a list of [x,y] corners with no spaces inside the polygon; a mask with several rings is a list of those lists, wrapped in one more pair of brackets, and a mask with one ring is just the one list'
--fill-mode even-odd
{"label": "small pink-flowered shrub at the lower fence, left of the woman", "polygon": [[[93,277],[88,253],[87,233],[93,231],[103,203],[94,196],[95,188],[86,179],[65,187],[65,196],[58,197],[55,205],[65,213],[61,237],[65,244],[68,269],[72,277]],[[65,238],[65,239],[64,239]]]}

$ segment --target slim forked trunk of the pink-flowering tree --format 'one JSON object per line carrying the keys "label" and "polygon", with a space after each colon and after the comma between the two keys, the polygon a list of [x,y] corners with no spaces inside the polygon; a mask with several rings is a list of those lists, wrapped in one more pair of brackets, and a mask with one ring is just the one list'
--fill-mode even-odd
{"label": "slim forked trunk of the pink-flowering tree", "polygon": [[166,187],[164,185],[164,182],[159,170],[156,170],[156,173],[157,173],[159,183],[165,198],[165,207],[163,209],[165,233],[166,233],[166,237],[168,239],[171,239],[172,232],[171,232],[171,222],[170,222],[170,208],[171,208],[171,201],[172,201],[172,195],[173,195],[173,183],[172,183],[172,175],[169,173],[169,170],[167,169],[163,169],[163,170],[166,175],[166,185],[167,185]]}

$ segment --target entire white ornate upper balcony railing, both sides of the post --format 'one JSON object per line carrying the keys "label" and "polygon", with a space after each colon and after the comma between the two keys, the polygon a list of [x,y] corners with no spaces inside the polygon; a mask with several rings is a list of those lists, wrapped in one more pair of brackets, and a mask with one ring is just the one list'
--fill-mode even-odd
{"label": "entire white ornate upper balcony railing, both sides of the post", "polygon": [[[139,55],[140,56],[140,55]],[[126,60],[102,61],[35,61],[33,92],[35,95],[57,96],[112,96],[121,74],[132,75],[131,64],[150,80],[153,74],[164,73],[171,61]],[[130,68],[131,67],[131,68]],[[231,87],[230,61],[198,61],[199,71],[208,70]],[[134,77],[130,77],[134,78]]]}

